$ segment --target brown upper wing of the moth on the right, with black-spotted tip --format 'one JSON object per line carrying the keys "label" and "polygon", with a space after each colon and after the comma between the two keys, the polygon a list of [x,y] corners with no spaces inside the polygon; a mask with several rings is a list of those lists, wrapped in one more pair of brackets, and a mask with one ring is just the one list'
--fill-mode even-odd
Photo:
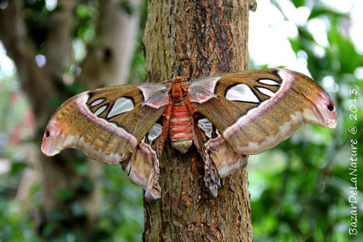
{"label": "brown upper wing of the moth on the right, with black-spotted tip", "polygon": [[261,153],[305,123],[335,128],[334,104],[319,84],[286,69],[244,71],[196,80],[188,100],[236,153]]}

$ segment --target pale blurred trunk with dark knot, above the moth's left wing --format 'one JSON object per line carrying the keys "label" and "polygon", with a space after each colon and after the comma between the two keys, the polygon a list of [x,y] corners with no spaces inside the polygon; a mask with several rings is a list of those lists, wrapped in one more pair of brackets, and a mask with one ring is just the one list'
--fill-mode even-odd
{"label": "pale blurred trunk with dark knot, above the moth's left wing", "polygon": [[[140,5],[140,1],[133,1]],[[108,84],[125,84],[131,64],[140,16],[122,11],[119,1],[100,1],[97,46],[89,48],[78,80],[86,89]],[[138,9],[138,8],[136,8]]]}

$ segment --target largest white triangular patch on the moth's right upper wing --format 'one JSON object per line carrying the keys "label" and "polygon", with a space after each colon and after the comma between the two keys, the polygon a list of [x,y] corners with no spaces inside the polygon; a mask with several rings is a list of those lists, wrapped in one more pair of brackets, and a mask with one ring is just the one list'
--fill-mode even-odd
{"label": "largest white triangular patch on the moth's right upper wing", "polygon": [[246,84],[237,84],[227,89],[225,93],[227,100],[242,102],[260,102],[259,98],[254,95],[250,86]]}

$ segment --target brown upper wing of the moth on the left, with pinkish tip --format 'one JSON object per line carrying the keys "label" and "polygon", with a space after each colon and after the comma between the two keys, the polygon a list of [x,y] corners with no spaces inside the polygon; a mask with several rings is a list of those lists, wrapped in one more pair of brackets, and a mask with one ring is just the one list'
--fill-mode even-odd
{"label": "brown upper wing of the moth on the left, with pinkish tip", "polygon": [[48,122],[41,151],[66,148],[110,165],[127,160],[169,103],[166,85],[111,86],[71,97]]}

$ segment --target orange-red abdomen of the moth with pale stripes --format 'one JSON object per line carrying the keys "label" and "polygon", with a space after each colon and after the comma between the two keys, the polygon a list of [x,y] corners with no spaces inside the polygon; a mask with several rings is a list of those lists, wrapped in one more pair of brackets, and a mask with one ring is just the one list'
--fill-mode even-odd
{"label": "orange-red abdomen of the moth with pale stripes", "polygon": [[183,102],[171,109],[170,139],[171,145],[181,153],[187,152],[193,142],[192,118],[189,109]]}

